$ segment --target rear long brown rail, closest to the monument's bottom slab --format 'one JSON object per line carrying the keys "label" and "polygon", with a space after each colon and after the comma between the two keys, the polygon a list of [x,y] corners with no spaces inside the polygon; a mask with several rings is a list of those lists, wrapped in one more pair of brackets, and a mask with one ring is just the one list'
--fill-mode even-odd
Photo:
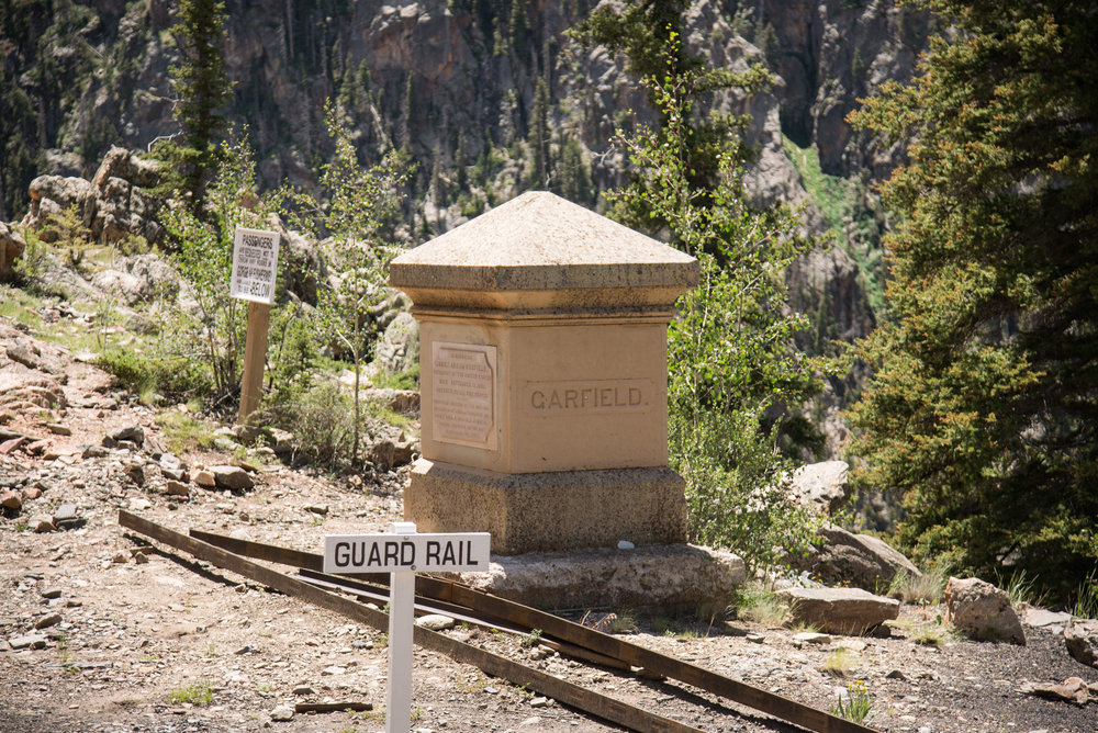
{"label": "rear long brown rail, closest to the monument's bottom slab", "polygon": [[[352,583],[341,578],[341,576],[325,576],[322,572],[324,566],[323,555],[249,540],[237,540],[199,530],[191,530],[191,534],[237,554],[311,571],[303,574],[314,577],[340,577],[341,583]],[[363,576],[357,575],[356,577]],[[371,583],[379,585],[386,585],[389,583],[388,575],[374,574],[365,577],[368,577]],[[810,731],[816,731],[817,733],[872,733],[873,731],[873,729],[860,723],[832,715],[831,713],[797,702],[796,700],[791,700],[775,692],[725,677],[697,665],[665,656],[617,636],[612,636],[574,623],[559,616],[539,611],[528,606],[477,590],[460,583],[442,580],[427,575],[416,575],[416,594],[434,600],[456,604],[500,623],[518,625],[525,629],[539,629],[542,634],[567,644],[586,649],[603,657],[616,659],[631,667],[645,668],[649,674],[691,685],[706,692],[727,698],[733,702]]]}

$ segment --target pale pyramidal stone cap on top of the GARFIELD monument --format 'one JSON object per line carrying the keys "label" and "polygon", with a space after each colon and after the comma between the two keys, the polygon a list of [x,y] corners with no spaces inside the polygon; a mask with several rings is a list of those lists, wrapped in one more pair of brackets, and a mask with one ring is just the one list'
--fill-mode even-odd
{"label": "pale pyramidal stone cap on top of the GARFIELD monument", "polygon": [[390,285],[417,306],[670,305],[697,281],[693,257],[546,191],[404,252],[389,270]]}

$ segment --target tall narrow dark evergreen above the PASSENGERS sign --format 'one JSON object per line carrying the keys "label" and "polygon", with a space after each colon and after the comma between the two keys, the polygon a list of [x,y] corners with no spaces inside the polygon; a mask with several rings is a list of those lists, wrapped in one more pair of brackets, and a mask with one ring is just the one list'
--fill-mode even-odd
{"label": "tall narrow dark evergreen above the PASSENGERS sign", "polygon": [[223,48],[227,22],[223,0],[180,0],[179,23],[172,27],[181,52],[180,63],[170,71],[183,143],[164,154],[178,168],[197,212],[217,169],[225,124],[221,110],[232,93]]}

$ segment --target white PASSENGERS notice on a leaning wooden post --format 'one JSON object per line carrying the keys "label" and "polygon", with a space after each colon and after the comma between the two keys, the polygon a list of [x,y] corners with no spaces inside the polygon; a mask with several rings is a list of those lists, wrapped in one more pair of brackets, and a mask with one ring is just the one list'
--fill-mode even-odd
{"label": "white PASSENGERS notice on a leaning wooden post", "polygon": [[267,361],[267,329],[274,281],[278,278],[278,232],[236,227],[229,295],[248,303],[248,336],[244,345],[244,377],[240,380],[242,425],[259,407]]}

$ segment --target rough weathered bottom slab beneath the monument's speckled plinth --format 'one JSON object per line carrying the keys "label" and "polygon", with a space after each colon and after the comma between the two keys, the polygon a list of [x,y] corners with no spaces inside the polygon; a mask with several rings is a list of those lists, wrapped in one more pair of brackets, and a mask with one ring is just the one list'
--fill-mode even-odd
{"label": "rough weathered bottom slab beneath the monument's speckled plinth", "polygon": [[488,573],[461,573],[479,590],[541,609],[719,614],[746,578],[730,552],[692,544],[493,555]]}

